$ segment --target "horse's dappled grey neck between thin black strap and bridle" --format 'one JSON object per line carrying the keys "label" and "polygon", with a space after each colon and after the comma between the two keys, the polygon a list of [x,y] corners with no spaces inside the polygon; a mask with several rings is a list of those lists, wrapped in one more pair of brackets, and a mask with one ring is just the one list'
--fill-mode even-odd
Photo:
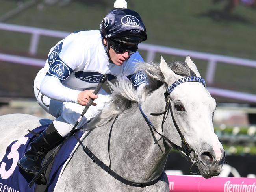
{"label": "horse's dappled grey neck between thin black strap and bridle", "polygon": [[[150,113],[164,110],[163,92],[148,96],[142,107],[161,132],[162,117]],[[112,168],[124,177],[140,182],[156,179],[163,172],[168,152],[160,135],[150,131],[139,109],[122,114],[115,123],[111,136],[111,162]]]}

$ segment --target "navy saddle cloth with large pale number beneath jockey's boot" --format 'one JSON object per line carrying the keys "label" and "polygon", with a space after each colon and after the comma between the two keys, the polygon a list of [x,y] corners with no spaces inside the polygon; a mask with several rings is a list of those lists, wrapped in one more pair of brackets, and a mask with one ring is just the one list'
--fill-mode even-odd
{"label": "navy saddle cloth with large pale number beneath jockey's boot", "polygon": [[[48,125],[40,126],[32,131],[34,133],[41,134],[47,126]],[[78,131],[76,135],[78,138],[81,138],[83,132]],[[27,135],[19,138],[19,140],[11,142],[11,144],[6,148],[6,153],[0,162],[0,192],[54,191],[60,174],[65,168],[67,162],[70,160],[75,147],[78,146],[78,141],[72,136],[59,150],[52,163],[50,171],[48,167],[49,177],[47,178],[48,183],[46,186],[42,187],[42,185],[34,184],[31,188],[29,188],[28,184],[33,177],[31,175],[24,174],[24,172],[22,172],[22,170],[20,170],[20,168],[17,166],[17,161],[24,155],[25,151],[29,149],[30,142],[35,140],[36,137],[37,136],[33,133],[28,133]],[[49,154],[51,154],[51,151]]]}

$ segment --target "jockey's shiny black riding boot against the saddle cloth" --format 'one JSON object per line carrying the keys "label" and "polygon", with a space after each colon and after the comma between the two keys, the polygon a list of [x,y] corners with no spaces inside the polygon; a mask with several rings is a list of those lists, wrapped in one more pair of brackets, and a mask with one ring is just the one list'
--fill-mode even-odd
{"label": "jockey's shiny black riding boot against the saddle cloth", "polygon": [[37,174],[42,168],[41,162],[45,155],[61,144],[65,137],[59,135],[51,123],[31,144],[30,149],[17,162],[18,166],[29,174]]}

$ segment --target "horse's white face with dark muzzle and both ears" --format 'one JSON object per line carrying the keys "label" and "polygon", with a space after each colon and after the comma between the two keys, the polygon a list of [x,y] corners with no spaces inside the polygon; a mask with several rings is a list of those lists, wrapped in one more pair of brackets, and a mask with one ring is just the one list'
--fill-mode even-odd
{"label": "horse's white face with dark muzzle and both ears", "polygon": [[[197,76],[200,76],[190,57],[186,58]],[[175,74],[161,57],[161,71],[170,86],[183,78]],[[190,155],[198,157],[197,166],[205,178],[219,175],[224,161],[224,150],[214,133],[213,114],[216,102],[202,83],[185,82],[170,94],[174,118],[189,146],[195,150]]]}

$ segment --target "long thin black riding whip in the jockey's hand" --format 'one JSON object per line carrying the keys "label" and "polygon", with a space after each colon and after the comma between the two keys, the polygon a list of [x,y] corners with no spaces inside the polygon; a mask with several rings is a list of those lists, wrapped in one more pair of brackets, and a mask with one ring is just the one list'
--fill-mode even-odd
{"label": "long thin black riding whip in the jockey's hand", "polygon": [[[94,90],[93,94],[98,94],[99,90],[101,89],[103,83],[108,79],[108,76],[106,74],[102,75],[100,78],[100,82],[98,83],[96,89]],[[78,118],[76,124],[74,125],[74,127],[71,129],[71,131],[69,132],[69,134],[65,137],[65,139],[63,140],[63,142],[61,144],[59,144],[59,146],[53,151],[53,153],[50,155],[50,157],[46,160],[45,164],[42,166],[42,168],[39,170],[39,172],[35,175],[35,177],[33,177],[32,181],[29,183],[29,188],[32,187],[32,185],[35,183],[35,181],[37,181],[37,179],[39,179],[39,177],[41,176],[41,174],[43,174],[43,172],[46,170],[46,168],[49,166],[49,164],[54,160],[54,158],[56,157],[57,153],[59,152],[59,150],[61,149],[61,147],[64,145],[64,143],[69,139],[69,137],[71,135],[73,135],[76,126],[78,125],[78,123],[81,121],[83,115],[86,113],[86,111],[88,110],[88,108],[91,106],[91,104],[93,103],[93,99],[90,99],[89,102],[87,103],[87,105],[85,105],[85,108],[83,109],[83,112],[81,113],[81,116]]]}

